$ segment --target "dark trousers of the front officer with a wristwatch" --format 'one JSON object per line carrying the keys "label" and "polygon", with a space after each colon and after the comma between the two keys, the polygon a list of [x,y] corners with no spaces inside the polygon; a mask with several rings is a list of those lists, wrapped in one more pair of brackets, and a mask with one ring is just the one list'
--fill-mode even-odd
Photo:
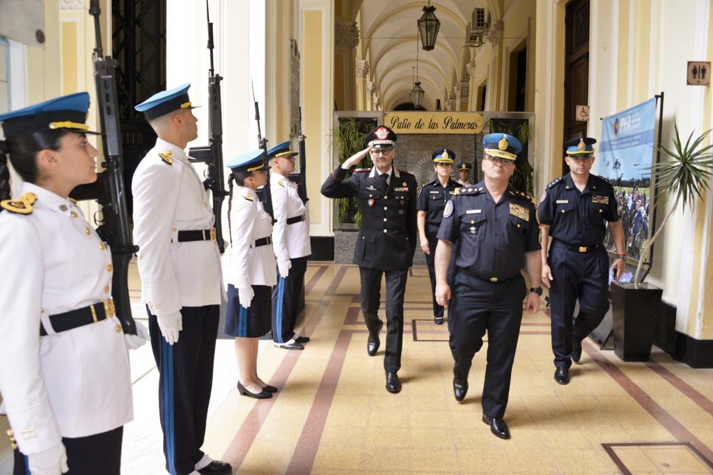
{"label": "dark trousers of the front officer with a wristwatch", "polygon": [[453,377],[467,379],[473,355],[483,346],[488,331],[486,377],[483,384],[483,413],[502,419],[508,406],[515,349],[523,320],[525,279],[521,275],[493,284],[456,272],[451,287],[448,330],[453,354]]}

